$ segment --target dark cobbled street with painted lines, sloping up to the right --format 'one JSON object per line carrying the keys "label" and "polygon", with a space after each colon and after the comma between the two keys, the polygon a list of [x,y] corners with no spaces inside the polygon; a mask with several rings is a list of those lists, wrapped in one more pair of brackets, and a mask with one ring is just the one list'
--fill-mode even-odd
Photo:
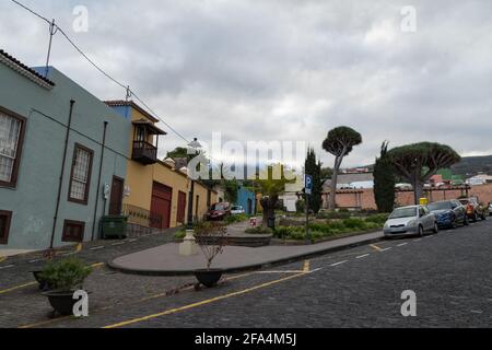
{"label": "dark cobbled street with painted lines, sloping up to the right", "polygon": [[[211,290],[197,292],[186,285],[192,281],[183,280],[183,289],[174,295],[156,293],[171,283],[168,278],[124,278],[103,269],[93,285],[98,285],[97,279],[119,285],[118,303],[105,308],[112,299],[107,295],[106,301],[91,304],[89,318],[35,326],[491,327],[491,262],[492,220],[233,276]],[[417,293],[417,317],[400,314],[405,290]],[[9,304],[19,300],[19,293],[4,298]],[[43,319],[40,313],[38,317]],[[0,312],[0,326],[7,323]]]}

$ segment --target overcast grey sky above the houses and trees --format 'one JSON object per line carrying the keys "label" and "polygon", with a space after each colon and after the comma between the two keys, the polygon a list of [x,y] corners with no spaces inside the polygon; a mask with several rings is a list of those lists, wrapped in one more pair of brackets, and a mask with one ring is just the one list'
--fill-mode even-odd
{"label": "overcast grey sky above the houses and trees", "polygon": [[[384,140],[492,154],[490,0],[21,1],[187,138],[305,140],[332,165],[320,144],[347,125],[364,143],[344,166],[374,162]],[[72,30],[75,5],[87,33]],[[414,33],[401,31],[403,5],[417,9]],[[46,23],[1,0],[1,48],[42,66],[47,43]],[[125,98],[59,34],[51,65],[101,100]]]}

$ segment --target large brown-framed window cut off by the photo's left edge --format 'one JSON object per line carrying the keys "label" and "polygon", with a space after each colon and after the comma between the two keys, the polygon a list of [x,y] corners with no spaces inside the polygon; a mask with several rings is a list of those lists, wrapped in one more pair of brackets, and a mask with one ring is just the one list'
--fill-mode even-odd
{"label": "large brown-framed window cut off by the photo's left edge", "polygon": [[0,186],[15,187],[25,119],[0,107]]}

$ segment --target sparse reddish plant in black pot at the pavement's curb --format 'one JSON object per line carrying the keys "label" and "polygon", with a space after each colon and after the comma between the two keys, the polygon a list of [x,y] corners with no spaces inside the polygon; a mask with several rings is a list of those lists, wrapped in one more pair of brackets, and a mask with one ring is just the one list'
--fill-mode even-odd
{"label": "sparse reddish plant in black pot at the pavement's curb", "polygon": [[227,228],[221,223],[211,223],[196,229],[195,238],[207,259],[207,268],[196,270],[198,281],[207,288],[215,287],[223,275],[222,269],[212,269],[213,260],[224,252]]}

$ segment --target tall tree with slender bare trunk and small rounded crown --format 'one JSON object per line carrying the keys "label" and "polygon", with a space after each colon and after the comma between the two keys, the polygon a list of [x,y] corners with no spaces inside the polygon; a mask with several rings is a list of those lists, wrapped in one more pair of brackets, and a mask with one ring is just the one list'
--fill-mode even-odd
{"label": "tall tree with slender bare trunk and small rounded crown", "polygon": [[328,153],[335,155],[333,176],[331,176],[329,210],[336,209],[338,173],[343,159],[349,155],[355,145],[362,143],[362,136],[352,128],[338,127],[328,132],[328,137],[323,142],[323,148]]}

